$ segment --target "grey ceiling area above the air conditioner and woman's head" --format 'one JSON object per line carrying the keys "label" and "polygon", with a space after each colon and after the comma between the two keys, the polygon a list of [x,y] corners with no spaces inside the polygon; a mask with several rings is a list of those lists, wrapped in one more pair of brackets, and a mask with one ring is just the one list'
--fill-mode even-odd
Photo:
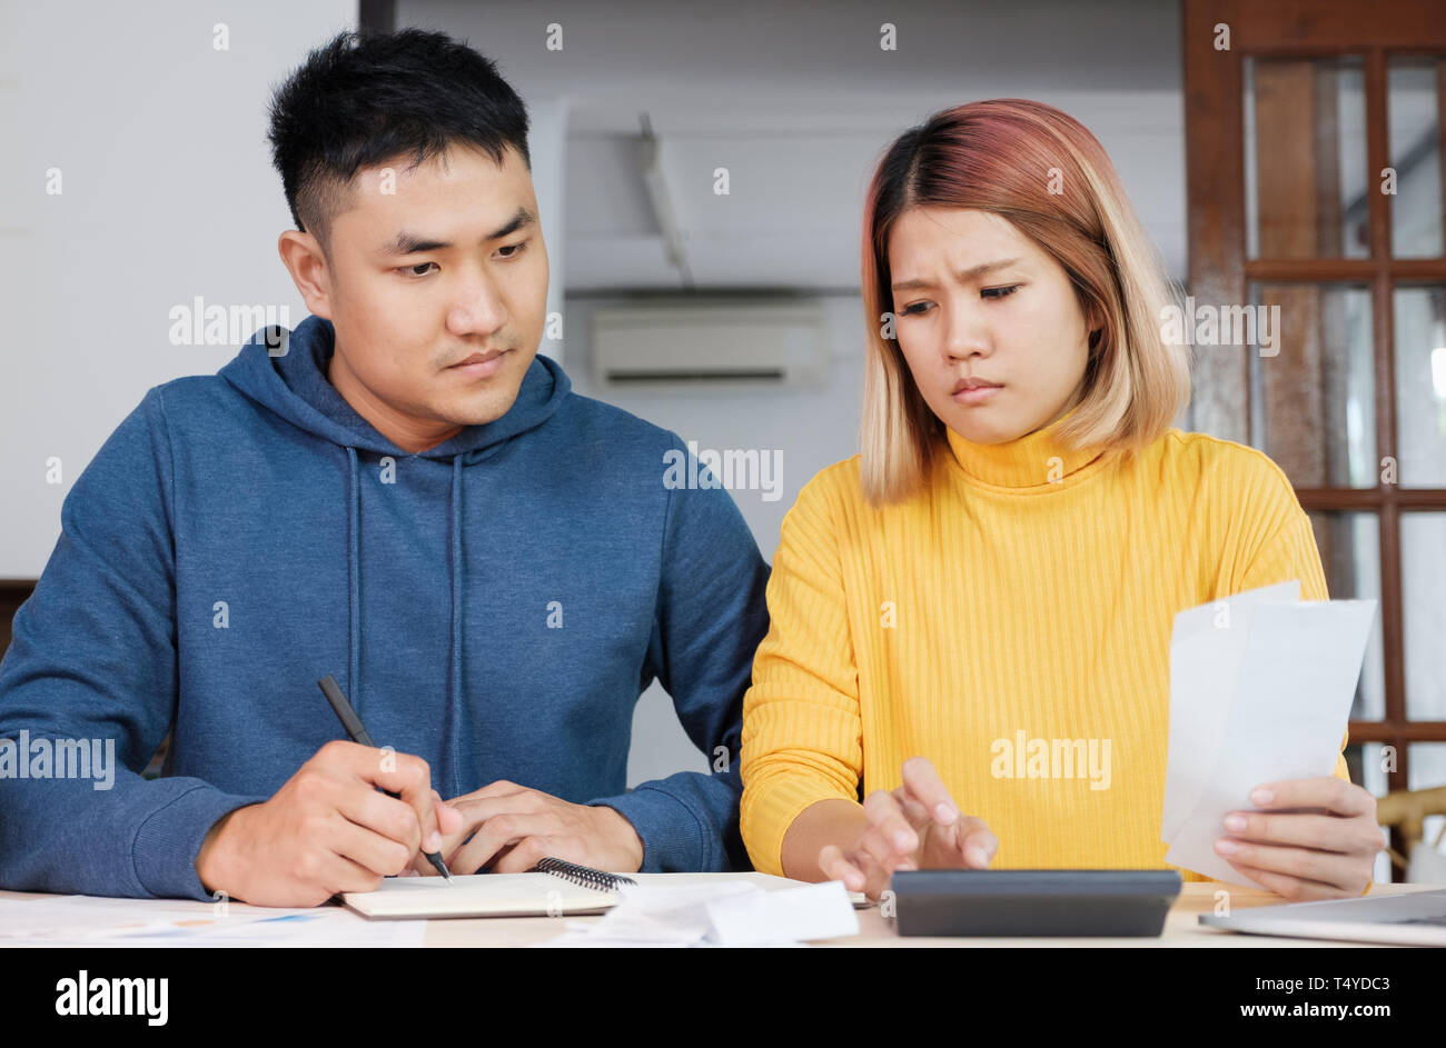
{"label": "grey ceiling area above the air conditioner and woman's head", "polygon": [[[897,51],[879,48],[881,25]],[[568,113],[564,282],[616,291],[857,291],[872,168],[930,113],[1028,97],[1084,123],[1176,279],[1186,272],[1178,4],[399,3]],[[562,49],[548,51],[548,23]],[[668,260],[638,159],[643,119],[685,270]],[[729,194],[714,192],[727,169]],[[691,283],[690,279],[691,278]]]}

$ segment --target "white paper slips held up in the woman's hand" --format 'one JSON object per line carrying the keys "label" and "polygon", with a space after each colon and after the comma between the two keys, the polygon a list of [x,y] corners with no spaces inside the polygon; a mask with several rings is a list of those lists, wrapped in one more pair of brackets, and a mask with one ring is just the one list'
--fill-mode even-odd
{"label": "white paper slips held up in the woman's hand", "polygon": [[1374,600],[1296,600],[1296,581],[1180,611],[1170,643],[1165,862],[1252,885],[1216,854],[1225,815],[1267,782],[1329,776],[1340,755]]}

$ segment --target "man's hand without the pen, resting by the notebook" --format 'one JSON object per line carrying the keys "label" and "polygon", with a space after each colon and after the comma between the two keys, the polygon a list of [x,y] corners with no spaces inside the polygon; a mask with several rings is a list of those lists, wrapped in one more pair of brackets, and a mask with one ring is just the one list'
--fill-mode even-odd
{"label": "man's hand without the pen, resting by the notebook", "polygon": [[[461,812],[461,827],[442,834],[441,853],[451,873],[525,873],[545,856],[613,873],[642,867],[642,838],[620,812],[606,805],[570,804],[539,789],[499,779],[447,801]],[[471,840],[467,840],[467,838]],[[421,854],[412,869],[434,875]]]}

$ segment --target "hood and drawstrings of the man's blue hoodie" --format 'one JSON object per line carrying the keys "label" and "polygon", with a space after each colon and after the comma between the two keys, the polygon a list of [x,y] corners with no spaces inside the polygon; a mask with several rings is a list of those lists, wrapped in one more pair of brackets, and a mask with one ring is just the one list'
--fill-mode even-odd
{"label": "hood and drawstrings of the man's blue hoodie", "polygon": [[463,658],[463,470],[484,461],[500,447],[528,431],[536,429],[568,398],[571,382],[557,361],[536,356],[528,366],[518,398],[508,412],[483,425],[464,426],[455,437],[421,452],[396,447],[362,418],[327,380],[327,364],[335,351],[335,328],[321,317],[307,317],[288,331],[269,325],[257,331],[241,347],[240,354],[218,374],[241,393],[270,409],[292,425],[314,437],[346,450],[347,455],[347,607],[350,619],[347,642],[347,688],[351,704],[362,708],[362,484],[359,452],[405,458],[451,460],[451,499],[447,546],[451,587],[451,642],[448,645],[448,688],[445,718],[454,733],[466,733],[466,697],[461,682]]}

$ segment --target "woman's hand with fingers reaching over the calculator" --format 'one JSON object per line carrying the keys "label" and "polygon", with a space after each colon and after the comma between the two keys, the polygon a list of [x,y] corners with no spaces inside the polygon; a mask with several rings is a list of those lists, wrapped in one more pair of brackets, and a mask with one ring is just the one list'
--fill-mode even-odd
{"label": "woman's hand with fingers reaching over the calculator", "polygon": [[902,770],[902,786],[863,801],[869,822],[847,850],[826,844],[818,851],[826,876],[875,901],[894,870],[983,870],[999,849],[983,820],[959,814],[927,757],[910,757]]}

